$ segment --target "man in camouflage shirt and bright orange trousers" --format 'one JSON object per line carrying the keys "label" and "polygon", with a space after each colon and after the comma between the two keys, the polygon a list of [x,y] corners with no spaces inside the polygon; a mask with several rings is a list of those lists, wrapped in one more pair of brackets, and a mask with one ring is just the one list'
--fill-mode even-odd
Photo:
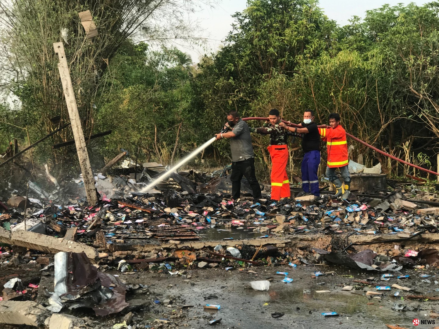
{"label": "man in camouflage shirt and bright orange trousers", "polygon": [[261,135],[270,135],[271,168],[271,199],[281,200],[290,197],[290,182],[287,175],[288,163],[288,133],[279,126],[281,117],[279,111],[273,108],[268,116],[268,121],[260,128],[250,128],[250,132]]}

